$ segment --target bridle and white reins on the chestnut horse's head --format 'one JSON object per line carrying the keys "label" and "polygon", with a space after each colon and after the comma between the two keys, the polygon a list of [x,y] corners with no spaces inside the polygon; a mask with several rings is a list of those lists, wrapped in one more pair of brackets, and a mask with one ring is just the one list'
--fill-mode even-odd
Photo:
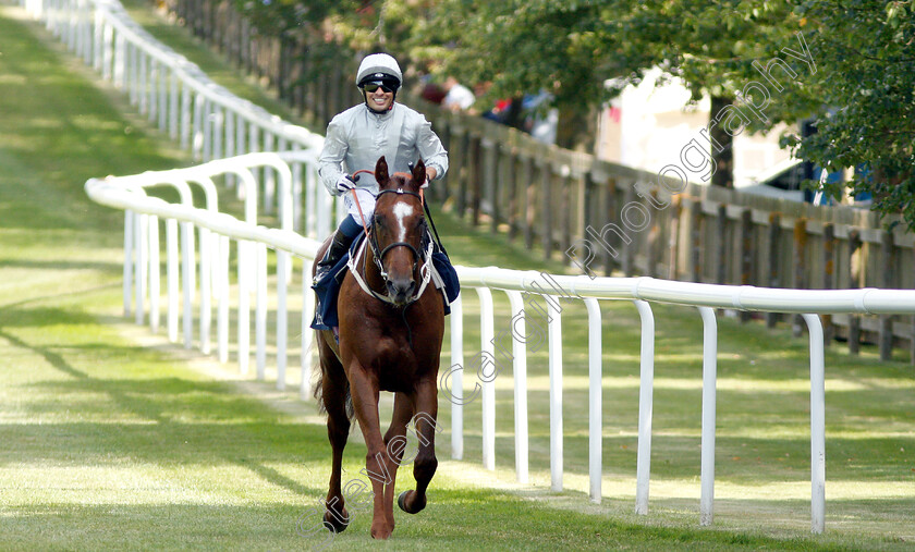
{"label": "bridle and white reins on the chestnut horse's head", "polygon": [[[370,171],[365,171],[365,172],[370,172]],[[377,235],[378,225],[377,225],[377,223],[373,222],[371,225],[368,225],[366,223],[365,216],[362,212],[362,207],[359,206],[358,199],[356,198],[355,191],[352,191],[352,193],[353,193],[353,199],[355,200],[356,207],[358,208],[358,211],[359,211],[359,217],[362,218],[363,229],[365,230],[366,238],[363,242],[363,245],[359,246],[359,250],[356,253],[356,255],[350,257],[350,260],[347,262],[347,266],[350,268],[350,272],[353,273],[353,278],[356,280],[356,283],[359,284],[359,287],[362,287],[363,291],[365,291],[367,294],[371,295],[376,299],[388,303],[390,305],[403,306],[403,307],[406,307],[406,306],[413,304],[414,302],[416,302],[416,299],[418,299],[423,295],[423,292],[426,291],[426,285],[428,285],[429,280],[431,279],[431,261],[430,261],[430,259],[431,259],[432,248],[434,248],[435,244],[431,242],[431,240],[427,238],[428,231],[425,230],[425,228],[423,230],[423,237],[422,237],[420,246],[419,246],[420,249],[423,249],[422,254],[420,254],[419,250],[416,249],[416,247],[414,247],[412,244],[406,243],[406,242],[394,242],[394,243],[388,244],[383,249],[381,249],[381,246],[378,244],[378,235]],[[413,197],[416,197],[417,199],[419,199],[420,205],[423,204],[423,196],[422,195],[416,194],[415,192],[406,192],[403,188],[382,189],[375,197],[378,198],[378,197],[381,197],[385,194],[398,194],[398,195],[413,196]],[[373,219],[375,219],[375,217],[373,217]],[[366,272],[366,263],[367,263],[367,257],[368,257],[367,255],[365,255],[366,244],[368,244],[368,247],[371,249],[371,259],[375,262],[375,266],[378,267],[378,271],[381,274],[382,280],[385,280],[386,284],[389,282],[389,280],[388,280],[388,272],[385,270],[383,260],[385,260],[385,255],[387,255],[391,249],[394,249],[395,247],[406,247],[407,249],[410,249],[410,252],[413,254],[413,269],[411,271],[411,273],[413,273],[413,274],[416,273],[416,269],[419,267],[420,259],[423,260],[423,267],[419,268],[419,274],[422,277],[422,282],[420,282],[419,286],[417,287],[416,293],[410,299],[407,299],[407,302],[405,304],[398,305],[394,302],[394,299],[392,299],[388,295],[387,291],[382,295],[382,294],[376,292],[375,290],[373,290],[366,283],[364,277],[363,277],[363,274],[365,274],[365,272]],[[379,253],[379,249],[381,249],[380,253]],[[357,262],[356,258],[358,258],[359,256],[362,256],[362,258],[363,258],[363,274],[359,273],[359,271],[357,270],[358,267],[356,265],[356,262]],[[386,287],[387,287],[387,285],[386,285]]]}

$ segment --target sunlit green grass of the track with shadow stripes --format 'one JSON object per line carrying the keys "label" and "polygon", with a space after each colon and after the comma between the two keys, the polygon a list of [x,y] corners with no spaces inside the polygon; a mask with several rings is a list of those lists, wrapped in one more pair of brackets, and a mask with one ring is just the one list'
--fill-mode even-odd
{"label": "sunlit green grass of the track with shadow stripes", "polygon": [[[144,346],[148,330],[135,330],[120,316],[123,218],[88,201],[82,184],[188,159],[124,115],[123,99],[97,88],[60,48],[49,48],[38,25],[0,10],[0,549],[313,547],[318,541],[296,535],[295,527],[300,516],[316,516],[313,507],[326,492],[329,445],[314,405],[234,377],[232,366],[219,371],[161,345],[161,336],[151,340],[160,346]],[[171,32],[181,38],[180,29]],[[193,40],[183,40],[172,46],[204,56]],[[231,71],[223,71],[231,81]],[[239,86],[247,84],[239,79]],[[437,222],[457,262],[559,269],[447,214]],[[497,473],[479,467],[479,404],[469,405],[466,461],[447,461],[447,429],[429,507],[418,516],[395,513],[398,528],[387,548],[912,548],[911,368],[880,363],[871,351],[861,357],[828,352],[827,530],[810,537],[807,344],[786,330],[730,318],[721,319],[719,331],[716,523],[698,527],[700,322],[682,307],[655,308],[651,502],[648,516],[636,516],[638,319],[631,304],[602,305],[603,504],[590,504],[584,492],[586,322],[583,309],[569,303],[562,314],[568,490],[548,490],[541,351],[528,361],[535,484],[512,482],[507,370],[496,381]],[[464,307],[469,356],[479,349],[473,292]],[[500,318],[497,329],[505,322]],[[469,385],[473,379],[466,379]],[[444,400],[440,410],[442,427],[450,428]],[[357,477],[364,462],[358,432],[353,434],[345,478]],[[403,474],[402,488],[410,480]],[[333,545],[374,548],[368,526],[368,514],[357,513]]]}

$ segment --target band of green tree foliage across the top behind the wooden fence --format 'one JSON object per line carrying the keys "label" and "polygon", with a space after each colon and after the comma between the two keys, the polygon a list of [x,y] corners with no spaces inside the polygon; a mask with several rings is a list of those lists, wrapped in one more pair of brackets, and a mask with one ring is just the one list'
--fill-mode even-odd
{"label": "band of green tree foliage across the top behind the wooden fence", "polygon": [[[762,116],[748,118],[740,132],[769,131],[779,123],[795,128],[813,120],[816,134],[792,133],[783,145],[830,170],[866,168],[853,193],[873,193],[881,212],[902,212],[915,229],[915,0],[261,0],[243,5],[264,28],[300,36],[316,48],[343,49],[349,57],[387,50],[419,72],[489,82],[492,97],[546,89],[552,103],[544,107],[565,112],[587,113],[659,66],[682,79],[693,101],[708,96],[716,109],[762,102]],[[815,65],[785,53],[801,48],[798,33]],[[774,58],[796,77],[768,86],[766,94],[747,88],[752,82],[767,85],[758,65]],[[840,187],[831,184],[827,191],[838,196]]]}

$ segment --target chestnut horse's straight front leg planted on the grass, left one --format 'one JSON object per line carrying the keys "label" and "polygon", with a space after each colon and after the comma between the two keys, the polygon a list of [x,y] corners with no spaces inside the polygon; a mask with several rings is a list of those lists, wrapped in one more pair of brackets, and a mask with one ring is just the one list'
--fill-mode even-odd
{"label": "chestnut horse's straight front leg planted on the grass, left one", "polygon": [[371,480],[371,491],[375,495],[371,538],[387,539],[391,536],[393,527],[388,524],[385,516],[385,486],[393,480],[388,470],[388,453],[378,422],[378,380],[362,367],[351,367],[349,376],[353,409],[365,439],[365,474]]}

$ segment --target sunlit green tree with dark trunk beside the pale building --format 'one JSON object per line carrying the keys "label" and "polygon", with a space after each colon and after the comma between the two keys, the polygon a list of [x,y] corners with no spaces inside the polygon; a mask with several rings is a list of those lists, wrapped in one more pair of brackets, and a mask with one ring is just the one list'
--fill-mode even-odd
{"label": "sunlit green tree with dark trunk beside the pale building", "polygon": [[[764,0],[443,0],[440,8],[437,26],[452,29],[442,53],[449,71],[492,81],[505,96],[551,87],[554,106],[573,113],[588,112],[660,66],[668,79],[685,83],[692,101],[709,96],[713,118],[733,103],[752,62],[771,56],[800,20],[788,2]],[[739,130],[776,122],[749,121]],[[710,125],[713,184],[733,183],[736,130]]]}

